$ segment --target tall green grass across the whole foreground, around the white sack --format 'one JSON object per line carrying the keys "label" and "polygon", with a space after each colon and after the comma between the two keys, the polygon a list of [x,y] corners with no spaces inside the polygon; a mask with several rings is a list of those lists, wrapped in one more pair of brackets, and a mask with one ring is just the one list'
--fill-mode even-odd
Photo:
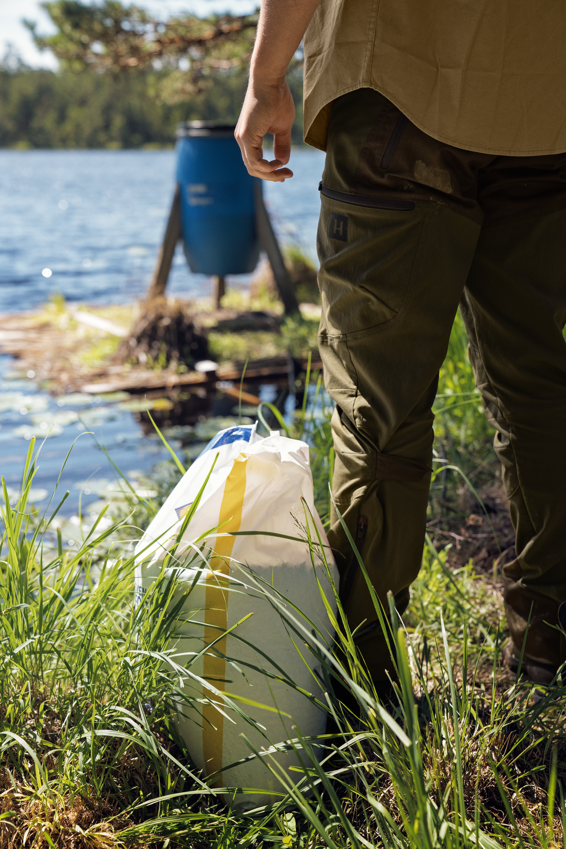
{"label": "tall green grass across the whole foreground, around the white sack", "polygon": [[[317,509],[328,516],[332,410],[322,380],[292,424],[266,405],[261,416],[267,410],[310,442]],[[134,599],[131,541],[159,503],[132,493],[129,514],[109,522],[105,508],[68,550],[57,529],[64,499],[42,515],[28,503],[40,460],[32,440],[17,502],[3,484],[0,847],[563,845],[566,688],[561,678],[536,689],[503,674],[500,601],[473,565],[451,569],[446,549],[428,541],[401,621],[381,608],[356,554],[395,661],[388,701],[357,653],[337,588],[332,650],[287,599],[273,601],[295,643],[319,656],[310,698],[328,712],[328,728],[306,739],[295,717],[296,736],[271,742],[293,746],[301,769],[282,773],[268,749],[279,794],[239,815],[193,769],[171,719],[193,675],[175,655],[190,592],[179,599],[174,570],[164,568]],[[308,515],[305,532],[313,564],[328,570]],[[203,556],[201,543],[191,556]]]}

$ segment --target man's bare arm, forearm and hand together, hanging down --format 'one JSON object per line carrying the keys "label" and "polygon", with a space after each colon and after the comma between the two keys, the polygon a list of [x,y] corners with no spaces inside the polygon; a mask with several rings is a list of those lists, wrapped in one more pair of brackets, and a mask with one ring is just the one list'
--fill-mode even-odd
{"label": "man's bare arm, forearm and hand together, hanging down", "polygon": [[[263,0],[257,25],[254,54],[249,66],[249,86],[236,127],[236,141],[252,177],[283,183],[293,171],[283,168],[291,154],[293,97],[285,72],[300,45],[320,0]],[[271,162],[264,160],[263,137],[273,133]]]}

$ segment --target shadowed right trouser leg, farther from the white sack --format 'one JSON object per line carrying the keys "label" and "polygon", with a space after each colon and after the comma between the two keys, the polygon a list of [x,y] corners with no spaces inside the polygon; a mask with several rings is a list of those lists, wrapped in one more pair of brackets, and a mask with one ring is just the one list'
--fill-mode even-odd
{"label": "shadowed right trouser leg, farther from the white sack", "polygon": [[566,211],[483,229],[461,305],[516,532],[516,559],[503,568],[507,625],[520,650],[530,618],[526,655],[557,666],[552,626],[566,599],[564,244]]}

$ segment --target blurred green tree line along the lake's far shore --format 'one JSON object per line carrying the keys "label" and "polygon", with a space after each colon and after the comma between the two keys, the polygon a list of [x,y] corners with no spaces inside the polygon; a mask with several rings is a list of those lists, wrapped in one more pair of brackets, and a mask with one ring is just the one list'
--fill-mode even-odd
{"label": "blurred green tree line along the lake's far shore", "polygon": [[[0,147],[143,148],[175,143],[180,121],[236,123],[247,71],[216,76],[175,104],[158,101],[155,72],[113,76],[0,66]],[[297,103],[293,141],[302,143],[302,76],[289,79]]]}

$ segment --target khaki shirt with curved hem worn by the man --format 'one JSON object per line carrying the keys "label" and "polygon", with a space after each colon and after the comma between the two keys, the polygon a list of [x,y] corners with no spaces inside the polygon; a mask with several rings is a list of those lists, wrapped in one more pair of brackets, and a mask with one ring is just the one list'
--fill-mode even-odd
{"label": "khaki shirt with curved hem worn by the man", "polygon": [[375,88],[441,142],[566,151],[566,0],[322,0],[305,33],[305,142]]}

